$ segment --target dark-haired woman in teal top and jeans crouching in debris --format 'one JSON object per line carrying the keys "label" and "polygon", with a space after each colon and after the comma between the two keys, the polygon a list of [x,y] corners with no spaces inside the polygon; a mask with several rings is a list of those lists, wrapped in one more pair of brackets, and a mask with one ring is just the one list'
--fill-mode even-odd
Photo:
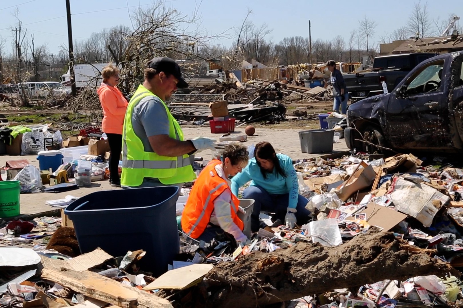
{"label": "dark-haired woman in teal top and jeans crouching in debris", "polygon": [[238,196],[238,188],[251,181],[243,192],[244,199],[254,199],[251,214],[251,230],[259,231],[261,211],[275,213],[290,228],[300,226],[309,219],[310,211],[305,208],[307,199],[299,195],[296,171],[290,157],[276,154],[269,142],[259,142],[254,158],[232,179],[232,193]]}

